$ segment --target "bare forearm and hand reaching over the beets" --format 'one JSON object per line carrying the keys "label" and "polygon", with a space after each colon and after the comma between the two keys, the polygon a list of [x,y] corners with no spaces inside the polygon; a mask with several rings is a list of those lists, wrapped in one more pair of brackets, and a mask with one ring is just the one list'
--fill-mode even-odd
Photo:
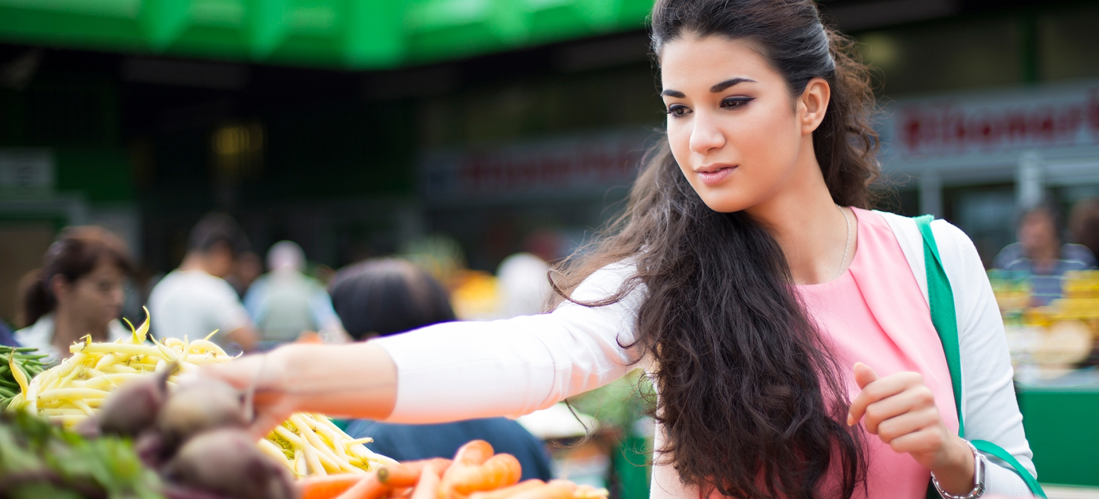
{"label": "bare forearm and hand reaching over the beets", "polygon": [[254,394],[257,434],[267,434],[292,412],[381,420],[397,404],[397,366],[373,341],[296,343],[211,365],[203,374]]}

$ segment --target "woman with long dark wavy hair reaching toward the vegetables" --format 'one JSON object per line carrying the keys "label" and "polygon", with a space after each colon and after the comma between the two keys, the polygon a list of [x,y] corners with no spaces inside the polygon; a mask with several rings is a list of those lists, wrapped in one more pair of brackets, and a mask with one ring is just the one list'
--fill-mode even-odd
{"label": "woman with long dark wavy hair reaching toward the vegetables", "polygon": [[[554,280],[568,299],[551,314],[280,349],[211,373],[257,387],[262,431],[303,408],[521,415],[641,364],[659,394],[654,497],[914,499],[932,476],[978,496],[988,460],[956,435],[919,229],[863,209],[877,137],[852,42],[810,0],[660,0],[652,23],[666,140],[614,230]],[[932,228],[959,286],[967,435],[1032,470],[984,268],[961,230]],[[1026,496],[997,463],[984,489]]]}

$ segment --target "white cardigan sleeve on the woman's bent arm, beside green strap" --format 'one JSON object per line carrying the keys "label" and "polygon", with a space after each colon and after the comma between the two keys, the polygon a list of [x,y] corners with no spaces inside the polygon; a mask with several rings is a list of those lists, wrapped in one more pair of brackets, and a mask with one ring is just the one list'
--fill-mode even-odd
{"label": "white cardigan sleeve on the woman's bent arm, beside green strap", "polygon": [[[1033,454],[1023,433],[1023,417],[1015,401],[1003,320],[988,274],[965,233],[945,220],[935,220],[931,227],[954,291],[965,438],[987,440],[1003,447],[1036,477]],[[985,457],[992,465],[985,477],[986,494],[1030,497],[1026,484],[1014,468],[997,457]]]}

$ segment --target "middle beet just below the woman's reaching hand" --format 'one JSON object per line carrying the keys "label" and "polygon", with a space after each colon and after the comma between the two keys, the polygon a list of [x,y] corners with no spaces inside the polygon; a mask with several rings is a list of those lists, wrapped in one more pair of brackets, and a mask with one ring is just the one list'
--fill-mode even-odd
{"label": "middle beet just below the woman's reaching hand", "polygon": [[243,395],[225,382],[195,378],[173,390],[160,408],[156,428],[166,449],[174,450],[192,435],[218,428],[244,428]]}

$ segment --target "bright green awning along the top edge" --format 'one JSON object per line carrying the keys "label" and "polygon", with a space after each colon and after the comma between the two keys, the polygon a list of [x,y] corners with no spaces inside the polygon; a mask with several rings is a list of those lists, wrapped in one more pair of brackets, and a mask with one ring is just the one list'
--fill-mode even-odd
{"label": "bright green awning along the top edge", "polygon": [[0,39],[385,69],[636,30],[652,0],[0,0]]}

